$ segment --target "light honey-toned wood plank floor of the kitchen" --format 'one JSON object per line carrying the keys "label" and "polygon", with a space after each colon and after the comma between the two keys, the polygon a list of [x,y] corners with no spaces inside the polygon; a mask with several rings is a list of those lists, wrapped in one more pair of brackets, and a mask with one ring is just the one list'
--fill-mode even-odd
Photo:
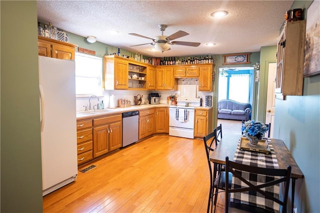
{"label": "light honey-toned wood plank floor of the kitchen", "polygon": [[45,195],[43,212],[206,212],[203,140],[156,135],[91,164],[97,167]]}

